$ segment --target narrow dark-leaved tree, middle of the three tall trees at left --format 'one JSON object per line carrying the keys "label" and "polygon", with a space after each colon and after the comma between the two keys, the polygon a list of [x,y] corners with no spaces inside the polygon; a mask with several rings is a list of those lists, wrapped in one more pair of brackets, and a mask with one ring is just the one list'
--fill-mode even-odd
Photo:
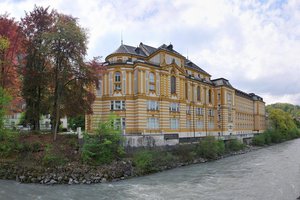
{"label": "narrow dark-leaved tree, middle of the three tall trees at left", "polygon": [[26,102],[25,119],[33,125],[33,130],[40,129],[40,116],[49,110],[49,73],[50,57],[44,35],[54,25],[56,12],[49,7],[34,7],[21,19],[22,31],[26,37],[25,63],[22,69],[22,96]]}

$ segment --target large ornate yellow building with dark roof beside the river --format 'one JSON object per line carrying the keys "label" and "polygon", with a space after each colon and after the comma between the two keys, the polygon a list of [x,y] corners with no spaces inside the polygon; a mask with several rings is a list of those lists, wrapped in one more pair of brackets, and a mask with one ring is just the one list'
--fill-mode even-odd
{"label": "large ornate yellow building with dark roof beside the river", "polygon": [[110,113],[127,137],[127,145],[166,145],[204,136],[247,135],[265,130],[265,103],[253,93],[235,89],[176,52],[122,44],[105,59],[93,115],[92,131]]}

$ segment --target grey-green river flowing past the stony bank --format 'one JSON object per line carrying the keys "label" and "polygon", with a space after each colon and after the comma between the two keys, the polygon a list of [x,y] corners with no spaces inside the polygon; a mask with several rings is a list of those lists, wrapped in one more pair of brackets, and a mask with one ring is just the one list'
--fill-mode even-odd
{"label": "grey-green river flowing past the stony bank", "polygon": [[300,139],[222,160],[95,185],[36,185],[0,180],[0,199],[295,200]]}

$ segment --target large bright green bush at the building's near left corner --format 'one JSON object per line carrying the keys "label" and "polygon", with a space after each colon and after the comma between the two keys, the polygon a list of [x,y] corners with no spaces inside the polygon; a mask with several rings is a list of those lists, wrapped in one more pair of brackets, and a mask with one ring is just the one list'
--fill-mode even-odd
{"label": "large bright green bush at the building's near left corner", "polygon": [[121,130],[113,127],[116,120],[115,116],[110,116],[107,122],[99,123],[96,135],[84,134],[83,162],[108,164],[124,155]]}

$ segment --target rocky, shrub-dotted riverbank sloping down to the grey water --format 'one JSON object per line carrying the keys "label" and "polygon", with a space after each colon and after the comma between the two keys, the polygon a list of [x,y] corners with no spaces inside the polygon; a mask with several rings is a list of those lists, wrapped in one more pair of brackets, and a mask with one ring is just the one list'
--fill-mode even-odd
{"label": "rocky, shrub-dotted riverbank sloping down to the grey water", "polygon": [[[26,147],[29,149],[28,152],[22,152],[19,157],[14,159],[0,160],[0,179],[46,185],[103,183],[191,164],[205,163],[261,148],[246,146],[242,150],[227,152],[214,158],[203,158],[194,154],[194,149],[197,146],[189,144],[180,145],[171,150],[143,150],[141,151],[143,153],[142,161],[137,161],[135,154],[133,154],[127,155],[119,161],[113,161],[109,165],[92,166],[83,164],[80,161],[78,146],[75,145],[76,141],[71,136],[60,136],[58,144],[51,144],[50,138],[46,136],[33,135],[26,137],[23,138],[23,142],[28,143],[28,147]],[[47,145],[37,145],[39,140],[48,143]],[[52,150],[60,153],[48,155],[49,146],[51,145],[54,145],[51,148]],[[152,155],[153,158],[149,158],[149,155]],[[142,167],[140,162],[142,162]]]}

